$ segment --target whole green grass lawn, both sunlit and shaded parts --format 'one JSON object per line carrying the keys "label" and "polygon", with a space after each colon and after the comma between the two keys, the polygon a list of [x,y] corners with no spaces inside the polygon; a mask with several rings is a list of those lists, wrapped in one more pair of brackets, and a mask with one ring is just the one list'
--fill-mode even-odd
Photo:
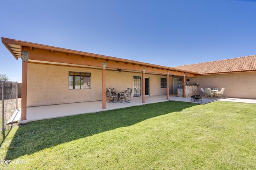
{"label": "whole green grass lawn, both sunlit and shaded parts", "polygon": [[8,127],[0,147],[10,170],[256,169],[256,105],[170,101],[35,121]]}

